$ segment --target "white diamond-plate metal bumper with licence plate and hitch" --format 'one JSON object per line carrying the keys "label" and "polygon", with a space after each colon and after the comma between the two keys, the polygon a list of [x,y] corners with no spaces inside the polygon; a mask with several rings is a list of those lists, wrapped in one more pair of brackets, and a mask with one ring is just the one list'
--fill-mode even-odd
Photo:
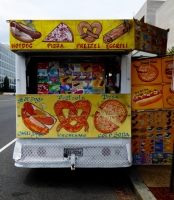
{"label": "white diamond-plate metal bumper with licence plate and hitch", "polygon": [[[82,156],[64,149],[81,148]],[[17,139],[15,166],[26,168],[117,168],[132,165],[130,139]]]}

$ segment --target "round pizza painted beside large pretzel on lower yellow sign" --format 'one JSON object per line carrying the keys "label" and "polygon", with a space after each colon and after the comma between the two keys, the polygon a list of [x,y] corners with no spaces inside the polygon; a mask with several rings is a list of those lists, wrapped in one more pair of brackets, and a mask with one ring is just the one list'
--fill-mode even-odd
{"label": "round pizza painted beside large pretzel on lower yellow sign", "polygon": [[95,128],[104,134],[112,133],[123,124],[127,118],[125,106],[118,100],[106,100],[99,106],[100,112],[94,115]]}

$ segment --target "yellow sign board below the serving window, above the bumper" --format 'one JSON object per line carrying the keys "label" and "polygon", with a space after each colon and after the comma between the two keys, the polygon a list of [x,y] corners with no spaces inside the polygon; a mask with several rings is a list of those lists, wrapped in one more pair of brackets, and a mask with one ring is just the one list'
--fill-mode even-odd
{"label": "yellow sign board below the serving window, above the bumper", "polygon": [[130,94],[17,95],[17,138],[130,138]]}

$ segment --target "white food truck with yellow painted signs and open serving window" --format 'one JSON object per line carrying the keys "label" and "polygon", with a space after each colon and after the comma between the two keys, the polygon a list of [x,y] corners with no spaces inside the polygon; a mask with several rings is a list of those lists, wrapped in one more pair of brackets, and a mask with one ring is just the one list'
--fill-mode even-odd
{"label": "white food truck with yellow painted signs and open serving window", "polygon": [[167,31],[135,19],[10,20],[9,28],[15,166],[131,166],[131,52],[165,54]]}

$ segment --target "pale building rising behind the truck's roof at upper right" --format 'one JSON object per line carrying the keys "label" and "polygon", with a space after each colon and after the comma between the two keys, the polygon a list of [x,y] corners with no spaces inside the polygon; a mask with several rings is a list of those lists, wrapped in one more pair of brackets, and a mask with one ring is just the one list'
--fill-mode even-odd
{"label": "pale building rising behind the truck's roof at upper right", "polygon": [[167,49],[174,47],[174,0],[147,0],[135,18],[162,29],[170,29]]}

